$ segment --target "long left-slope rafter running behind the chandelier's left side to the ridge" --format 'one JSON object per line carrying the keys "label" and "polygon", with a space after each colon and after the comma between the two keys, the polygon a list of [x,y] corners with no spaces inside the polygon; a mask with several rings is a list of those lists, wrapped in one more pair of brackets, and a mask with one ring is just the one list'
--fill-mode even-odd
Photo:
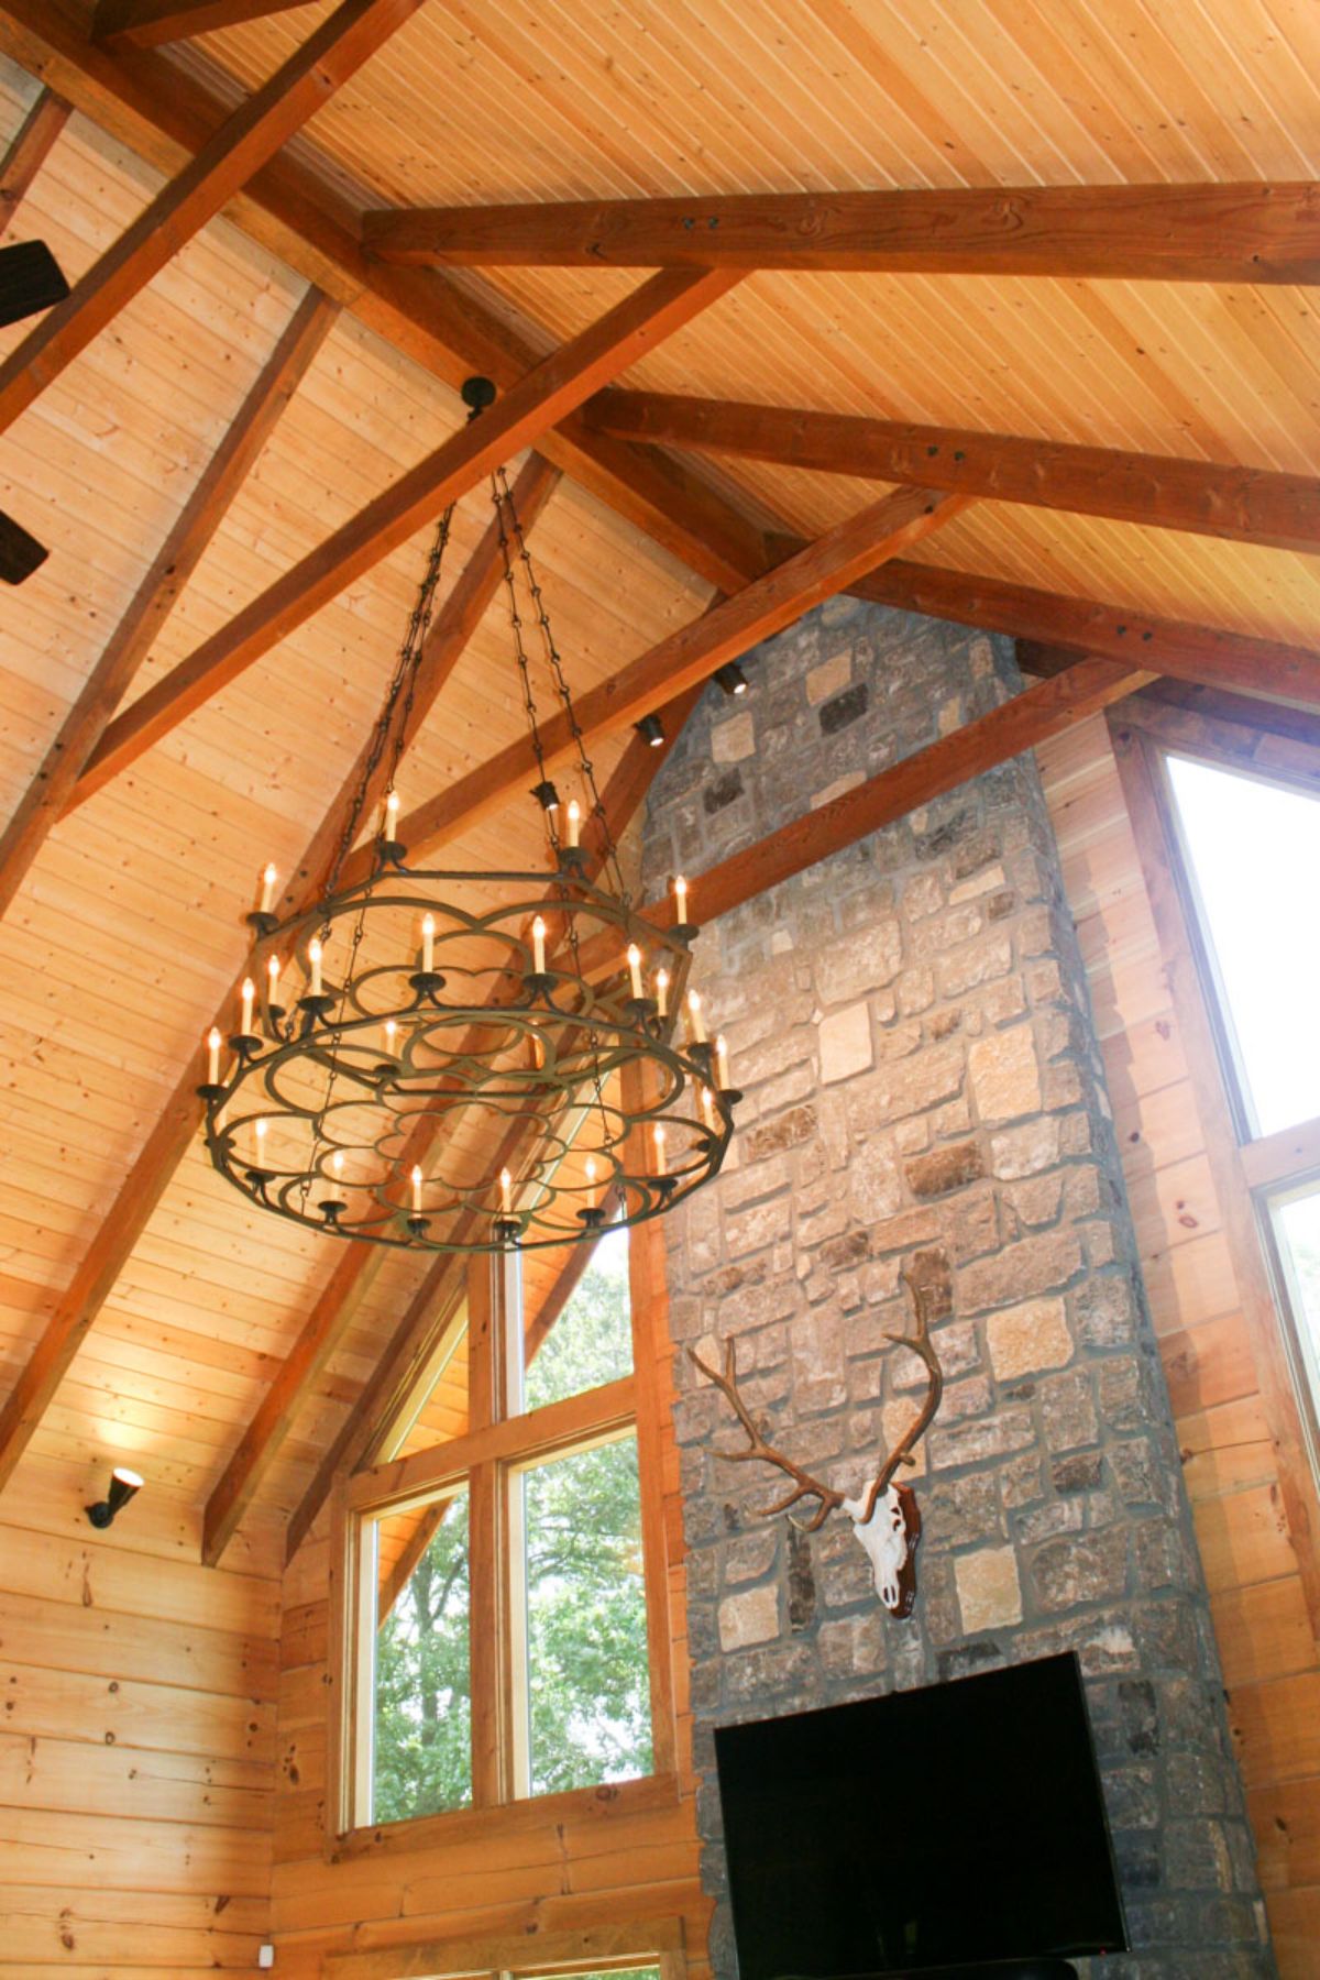
{"label": "long left-slope rafter running behind the chandelier's left side to the ridge", "polygon": [[[548,497],[554,479],[556,475],[544,461],[538,459],[528,461],[522,469],[515,487],[515,499],[519,503],[519,513],[524,517],[524,527],[530,525],[538,505],[542,505]],[[483,588],[489,586],[489,602],[495,584],[499,584],[501,570],[503,558],[499,550],[499,531],[491,525],[469,558],[463,578],[449,594],[431,626],[424,665],[418,671],[418,685],[414,693],[414,719],[418,723],[425,719],[427,707],[441,691],[459,659],[459,653],[463,651],[463,645],[467,644],[471,626],[481,616],[477,604]],[[358,788],[366,790],[368,806],[376,804],[384,792],[392,752],[388,748],[382,750],[376,770],[366,776],[368,748],[370,744],[364,744],[362,754],[344,778],[334,804],[329,808],[307,847],[303,861],[299,863],[295,885],[285,895],[289,913],[299,907],[309,907],[325,891]],[[237,996],[241,978],[247,974],[247,966],[249,964],[243,962],[234,978],[230,994],[222,1000],[216,1018],[222,1028],[228,1026],[232,1018],[234,998]],[[10,1390],[4,1410],[0,1410],[0,1489],[8,1483],[14,1465],[26,1451],[32,1434],[49,1408],[69,1362],[95,1323],[97,1313],[115,1289],[115,1281],[133,1255],[133,1249],[150,1222],[150,1216],[174,1176],[174,1170],[188,1152],[188,1144],[196,1133],[202,1109],[196,1095],[196,1065],[188,1065],[184,1067],[164,1113],[129,1168],[129,1174],[125,1176],[105,1222],[97,1230],[97,1236],[83,1253],[83,1261],[73,1273],[73,1279],[55,1303],[28,1366]]]}

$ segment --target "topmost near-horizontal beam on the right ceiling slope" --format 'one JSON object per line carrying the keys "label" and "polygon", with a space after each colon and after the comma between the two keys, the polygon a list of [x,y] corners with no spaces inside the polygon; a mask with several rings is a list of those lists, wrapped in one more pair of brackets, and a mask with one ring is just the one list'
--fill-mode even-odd
{"label": "topmost near-horizontal beam on the right ceiling slope", "polygon": [[390,261],[463,267],[895,269],[1132,281],[1320,279],[1314,180],[754,192],[366,216]]}

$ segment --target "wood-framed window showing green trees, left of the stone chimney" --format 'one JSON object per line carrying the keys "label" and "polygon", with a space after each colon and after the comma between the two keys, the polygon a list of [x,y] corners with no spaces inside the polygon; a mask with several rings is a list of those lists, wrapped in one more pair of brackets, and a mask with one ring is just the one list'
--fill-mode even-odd
{"label": "wood-framed window showing green trees, left of the stone chimney", "polygon": [[627,1234],[582,1263],[475,1259],[467,1424],[340,1483],[336,1835],[673,1770],[655,1342]]}

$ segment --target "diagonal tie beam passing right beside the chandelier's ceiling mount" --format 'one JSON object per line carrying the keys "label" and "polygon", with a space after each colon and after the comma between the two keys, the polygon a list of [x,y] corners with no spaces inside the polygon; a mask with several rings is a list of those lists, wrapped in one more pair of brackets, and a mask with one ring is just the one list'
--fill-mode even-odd
{"label": "diagonal tie beam passing right beside the chandelier's ceiling mount", "polygon": [[101,790],[152,742],[269,653],[279,640],[406,543],[447,503],[459,501],[511,453],[536,444],[604,378],[612,378],[691,323],[736,279],[736,275],[687,269],[653,275],[586,331],[542,358],[479,420],[459,428],[443,446],[400,475],[392,487],[309,550],[293,570],[269,584],[228,626],[117,717],[79,778],[69,808]]}

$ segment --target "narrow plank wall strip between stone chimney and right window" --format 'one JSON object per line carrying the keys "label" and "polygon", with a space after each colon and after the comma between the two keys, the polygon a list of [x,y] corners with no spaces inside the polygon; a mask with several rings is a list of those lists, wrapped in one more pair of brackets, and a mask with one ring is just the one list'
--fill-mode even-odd
{"label": "narrow plank wall strip between stone chimney and right window", "polygon": [[1037,752],[1090,978],[1282,1980],[1320,1974],[1320,1657],[1102,717]]}

